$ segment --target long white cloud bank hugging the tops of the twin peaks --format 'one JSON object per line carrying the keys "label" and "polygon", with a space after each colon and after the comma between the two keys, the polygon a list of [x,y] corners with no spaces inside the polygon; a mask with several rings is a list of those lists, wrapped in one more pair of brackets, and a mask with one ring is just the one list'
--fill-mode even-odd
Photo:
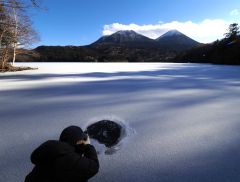
{"label": "long white cloud bank hugging the tops of the twin peaks", "polygon": [[231,22],[222,19],[205,19],[195,23],[192,21],[179,22],[172,21],[168,23],[157,23],[148,25],[120,24],[113,23],[104,25],[103,35],[111,35],[119,30],[133,30],[149,38],[156,39],[168,30],[177,29],[187,36],[202,42],[209,43],[221,39]]}

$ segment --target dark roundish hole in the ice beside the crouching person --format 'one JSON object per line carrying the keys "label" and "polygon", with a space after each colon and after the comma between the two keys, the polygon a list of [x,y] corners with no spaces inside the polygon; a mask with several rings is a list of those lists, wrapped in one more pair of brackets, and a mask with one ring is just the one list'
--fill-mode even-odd
{"label": "dark roundish hole in the ice beside the crouching person", "polygon": [[[121,140],[121,135],[125,133],[125,128],[120,124],[110,120],[101,120],[87,127],[87,133],[90,138],[97,140],[100,144],[104,144],[109,150],[109,154],[114,153],[113,150]],[[105,152],[105,153],[106,153]]]}

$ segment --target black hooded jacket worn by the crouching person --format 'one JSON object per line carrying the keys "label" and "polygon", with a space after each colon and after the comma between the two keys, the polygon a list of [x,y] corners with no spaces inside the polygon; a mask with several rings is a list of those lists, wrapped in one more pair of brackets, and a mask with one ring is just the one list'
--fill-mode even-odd
{"label": "black hooded jacket worn by the crouching person", "polygon": [[99,169],[97,153],[92,145],[76,145],[50,140],[31,155],[35,164],[25,182],[86,182]]}

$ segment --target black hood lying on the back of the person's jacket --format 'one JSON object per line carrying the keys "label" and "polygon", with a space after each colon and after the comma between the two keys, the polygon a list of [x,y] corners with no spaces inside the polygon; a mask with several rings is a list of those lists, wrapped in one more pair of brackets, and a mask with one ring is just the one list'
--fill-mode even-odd
{"label": "black hood lying on the back of the person's jacket", "polygon": [[74,152],[74,147],[60,141],[49,140],[35,149],[31,155],[33,164],[46,164],[58,157]]}

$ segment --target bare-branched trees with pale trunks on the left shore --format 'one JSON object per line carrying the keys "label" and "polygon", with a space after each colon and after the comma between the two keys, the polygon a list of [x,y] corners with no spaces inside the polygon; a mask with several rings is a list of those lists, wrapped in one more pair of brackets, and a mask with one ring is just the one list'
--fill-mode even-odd
{"label": "bare-branched trees with pale trunks on the left shore", "polygon": [[[38,41],[27,13],[39,7],[37,0],[0,0],[0,69],[14,66],[19,51]],[[9,64],[11,60],[11,64]]]}

